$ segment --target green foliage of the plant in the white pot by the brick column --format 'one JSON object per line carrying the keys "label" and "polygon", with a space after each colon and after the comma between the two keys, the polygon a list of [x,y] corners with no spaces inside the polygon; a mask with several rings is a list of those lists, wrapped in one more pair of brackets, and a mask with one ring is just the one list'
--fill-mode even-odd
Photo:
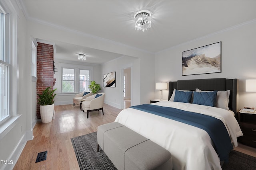
{"label": "green foliage of the plant in the white pot by the brick column", "polygon": [[54,97],[56,96],[56,94],[54,94],[54,91],[57,89],[50,89],[50,87],[46,88],[42,94],[38,94],[39,96],[38,98],[38,104],[40,106],[45,106],[45,105],[51,105],[54,104]]}

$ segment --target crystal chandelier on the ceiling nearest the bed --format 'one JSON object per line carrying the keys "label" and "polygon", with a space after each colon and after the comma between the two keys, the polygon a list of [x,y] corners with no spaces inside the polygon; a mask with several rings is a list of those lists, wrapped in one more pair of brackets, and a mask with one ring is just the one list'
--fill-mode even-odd
{"label": "crystal chandelier on the ceiling nearest the bed", "polygon": [[137,31],[150,29],[151,27],[151,12],[148,10],[141,10],[134,14],[135,29]]}

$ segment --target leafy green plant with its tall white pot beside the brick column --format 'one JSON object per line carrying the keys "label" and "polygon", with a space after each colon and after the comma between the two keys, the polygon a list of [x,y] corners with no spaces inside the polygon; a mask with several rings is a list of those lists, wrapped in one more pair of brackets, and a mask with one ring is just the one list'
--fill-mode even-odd
{"label": "leafy green plant with its tall white pot beside the brick column", "polygon": [[51,90],[50,87],[47,87],[42,94],[38,94],[38,104],[40,105],[40,116],[43,123],[49,123],[52,121],[52,116],[54,112],[54,90]]}

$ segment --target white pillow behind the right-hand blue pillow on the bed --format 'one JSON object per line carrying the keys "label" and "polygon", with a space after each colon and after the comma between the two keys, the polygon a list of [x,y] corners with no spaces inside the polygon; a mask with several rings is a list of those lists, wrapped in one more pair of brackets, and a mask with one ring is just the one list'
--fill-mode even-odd
{"label": "white pillow behind the right-hand blue pillow on the bed", "polygon": [[[212,91],[202,91],[200,89],[196,89],[196,92],[212,92]],[[227,91],[218,91],[217,97],[216,97],[216,103],[215,106],[228,110],[228,102],[229,102],[229,94],[230,90]]]}

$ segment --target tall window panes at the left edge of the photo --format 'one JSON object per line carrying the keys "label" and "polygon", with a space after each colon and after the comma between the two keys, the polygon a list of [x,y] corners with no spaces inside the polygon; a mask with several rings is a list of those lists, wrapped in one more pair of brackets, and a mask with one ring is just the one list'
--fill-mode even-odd
{"label": "tall window panes at the left edge of the photo", "polygon": [[[0,10],[1,12],[1,10]],[[1,12],[0,16],[0,121],[9,116],[9,16]]]}

